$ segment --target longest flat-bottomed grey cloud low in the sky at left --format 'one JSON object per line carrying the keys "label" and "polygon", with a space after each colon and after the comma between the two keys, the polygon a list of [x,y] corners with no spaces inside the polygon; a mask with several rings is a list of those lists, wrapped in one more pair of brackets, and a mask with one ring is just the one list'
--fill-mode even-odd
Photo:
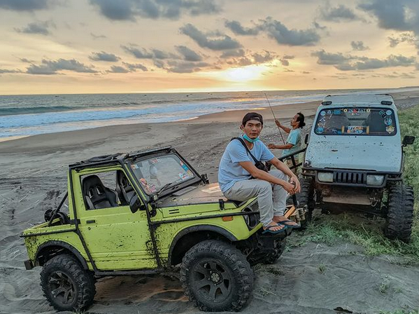
{"label": "longest flat-bottomed grey cloud low in the sky at left", "polygon": [[78,62],[75,59],[65,60],[45,60],[43,59],[41,64],[31,64],[26,73],[27,74],[41,74],[41,75],[52,75],[57,74],[58,71],[74,71],[79,73],[97,73],[92,67],[87,67],[85,64]]}

